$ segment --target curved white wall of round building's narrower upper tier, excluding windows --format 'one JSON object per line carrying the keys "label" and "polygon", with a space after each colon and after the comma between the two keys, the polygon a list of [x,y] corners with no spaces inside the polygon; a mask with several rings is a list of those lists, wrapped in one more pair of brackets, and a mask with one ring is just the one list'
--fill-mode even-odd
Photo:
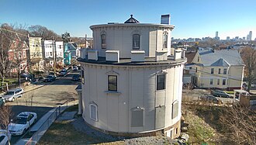
{"label": "curved white wall of round building's narrower upper tier, excluding windows", "polygon": [[[106,50],[119,50],[120,58],[130,58],[133,50],[133,34],[140,34],[140,50],[145,57],[155,57],[156,50],[163,50],[163,36],[168,33],[168,55],[171,55],[171,29],[174,26],[154,24],[113,24],[91,26],[93,47],[99,51],[99,57],[106,57]],[[102,49],[101,35],[106,34],[106,49]],[[166,49],[166,48],[165,48]]]}

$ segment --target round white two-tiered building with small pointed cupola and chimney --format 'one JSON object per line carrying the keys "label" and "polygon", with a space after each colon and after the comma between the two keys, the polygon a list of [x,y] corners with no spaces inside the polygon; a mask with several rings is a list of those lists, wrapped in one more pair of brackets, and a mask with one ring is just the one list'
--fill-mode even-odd
{"label": "round white two-tiered building with small pointed cupola and chimney", "polygon": [[90,27],[94,48],[78,58],[85,123],[117,136],[179,136],[186,58],[171,50],[174,27],[133,16]]}

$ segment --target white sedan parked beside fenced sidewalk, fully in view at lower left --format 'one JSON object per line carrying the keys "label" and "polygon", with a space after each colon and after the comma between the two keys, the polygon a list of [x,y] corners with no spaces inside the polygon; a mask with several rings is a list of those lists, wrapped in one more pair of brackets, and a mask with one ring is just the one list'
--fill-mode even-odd
{"label": "white sedan parked beside fenced sidewalk, fully in view at lower left", "polygon": [[22,135],[29,129],[29,126],[36,123],[36,119],[37,115],[35,112],[21,112],[12,120],[12,123],[9,123],[9,132],[12,133],[13,136]]}

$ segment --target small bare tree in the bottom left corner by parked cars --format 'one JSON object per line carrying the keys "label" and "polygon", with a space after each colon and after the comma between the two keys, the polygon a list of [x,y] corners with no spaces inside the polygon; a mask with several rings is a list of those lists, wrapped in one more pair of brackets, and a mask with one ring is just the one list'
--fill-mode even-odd
{"label": "small bare tree in the bottom left corner by parked cars", "polygon": [[10,144],[10,138],[9,138],[9,131],[8,131],[8,125],[12,118],[12,108],[9,105],[2,106],[2,109],[0,111],[0,129],[5,130],[5,135],[8,136],[9,144]]}

